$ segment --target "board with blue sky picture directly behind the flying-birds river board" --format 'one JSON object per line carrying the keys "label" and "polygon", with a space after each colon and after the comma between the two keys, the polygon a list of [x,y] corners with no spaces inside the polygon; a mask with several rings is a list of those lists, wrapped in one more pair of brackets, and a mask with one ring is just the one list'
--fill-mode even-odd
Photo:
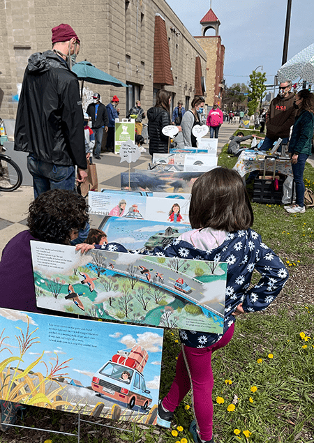
{"label": "board with blue sky picture directly behind the flying-birds river board", "polygon": [[165,248],[191,228],[183,223],[105,216],[99,229],[107,234],[108,243],[120,243],[128,250],[152,250],[156,246]]}

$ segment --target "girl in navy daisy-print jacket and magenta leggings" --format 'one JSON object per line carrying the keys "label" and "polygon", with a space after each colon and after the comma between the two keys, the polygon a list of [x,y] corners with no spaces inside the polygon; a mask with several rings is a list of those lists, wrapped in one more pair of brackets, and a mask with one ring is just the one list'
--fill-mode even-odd
{"label": "girl in navy daisy-print jacket and magenta leggings", "polygon": [[[192,188],[189,217],[193,230],[170,245],[133,252],[228,264],[223,333],[181,329],[176,376],[158,405],[157,423],[170,428],[174,410],[192,387],[196,421],[192,421],[190,432],[196,443],[214,443],[211,354],[230,342],[237,315],[264,310],[274,301],[288,273],[281,259],[262,242],[260,234],[251,230],[251,203],[236,171],[218,167],[199,177]],[[117,243],[95,248],[128,252]],[[254,269],[261,278],[249,289]]]}

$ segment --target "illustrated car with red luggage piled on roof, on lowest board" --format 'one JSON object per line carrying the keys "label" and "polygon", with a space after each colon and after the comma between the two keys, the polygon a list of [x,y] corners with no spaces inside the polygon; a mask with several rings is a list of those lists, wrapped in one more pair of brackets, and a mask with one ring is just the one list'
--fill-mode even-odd
{"label": "illustrated car with red luggage piled on roof, on lowest board", "polygon": [[147,360],[147,351],[139,345],[130,352],[118,351],[95,373],[91,388],[96,396],[119,400],[130,409],[137,405],[147,410],[152,401],[142,375]]}

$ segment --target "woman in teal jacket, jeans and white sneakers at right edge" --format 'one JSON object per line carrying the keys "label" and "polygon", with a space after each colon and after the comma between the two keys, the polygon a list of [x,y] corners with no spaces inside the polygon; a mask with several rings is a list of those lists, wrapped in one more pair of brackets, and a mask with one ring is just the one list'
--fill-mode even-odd
{"label": "woman in teal jacket, jeans and white sneakers at right edge", "polygon": [[304,167],[308,156],[312,153],[312,137],[314,128],[314,95],[308,89],[302,89],[294,98],[297,117],[294,120],[289,152],[291,155],[292,172],[295,182],[296,204],[284,207],[289,213],[304,213]]}

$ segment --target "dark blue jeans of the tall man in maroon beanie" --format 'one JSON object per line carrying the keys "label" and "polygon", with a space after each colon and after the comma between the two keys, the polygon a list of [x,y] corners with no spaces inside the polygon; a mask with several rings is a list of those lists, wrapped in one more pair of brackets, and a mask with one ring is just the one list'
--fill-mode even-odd
{"label": "dark blue jeans of the tall man in maroon beanie", "polygon": [[35,198],[50,189],[75,190],[74,166],[46,163],[29,154],[27,169],[33,176],[33,195]]}

